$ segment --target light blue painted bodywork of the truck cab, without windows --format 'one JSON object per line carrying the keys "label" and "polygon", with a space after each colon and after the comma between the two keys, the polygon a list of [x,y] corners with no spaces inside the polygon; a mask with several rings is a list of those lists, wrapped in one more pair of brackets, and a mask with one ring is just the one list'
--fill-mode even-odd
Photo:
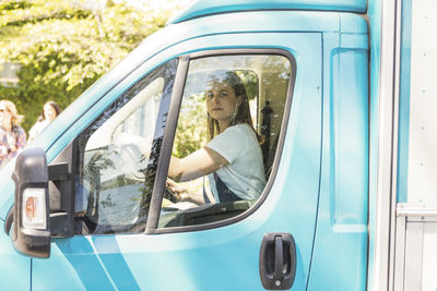
{"label": "light blue painted bodywork of the truck cab, without windows", "polygon": [[[184,70],[184,60],[199,53],[273,50],[290,59],[295,75],[260,201],[218,225],[54,237],[49,257],[35,258],[17,253],[3,231],[14,204],[14,160],[0,172],[0,290],[264,290],[267,233],[293,234],[292,290],[373,289],[380,13],[379,1],[364,0],[193,3],[83,93],[32,147],[54,163],[166,63],[177,60]],[[177,86],[184,80],[172,98],[181,98]]]}

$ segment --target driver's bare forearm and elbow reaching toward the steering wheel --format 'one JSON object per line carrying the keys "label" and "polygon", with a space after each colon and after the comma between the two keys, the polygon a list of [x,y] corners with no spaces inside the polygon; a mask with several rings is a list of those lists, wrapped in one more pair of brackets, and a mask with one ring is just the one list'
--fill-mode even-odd
{"label": "driver's bare forearm and elbow reaching toward the steering wheel", "polygon": [[228,163],[215,150],[203,147],[181,159],[172,157],[168,177],[177,182],[186,182],[215,172]]}

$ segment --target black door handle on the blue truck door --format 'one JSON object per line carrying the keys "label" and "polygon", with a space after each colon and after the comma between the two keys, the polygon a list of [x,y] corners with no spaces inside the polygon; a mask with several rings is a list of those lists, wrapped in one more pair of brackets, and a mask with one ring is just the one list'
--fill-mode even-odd
{"label": "black door handle on the blue truck door", "polygon": [[296,245],[291,233],[267,233],[262,238],[259,269],[269,290],[292,288],[296,276]]}

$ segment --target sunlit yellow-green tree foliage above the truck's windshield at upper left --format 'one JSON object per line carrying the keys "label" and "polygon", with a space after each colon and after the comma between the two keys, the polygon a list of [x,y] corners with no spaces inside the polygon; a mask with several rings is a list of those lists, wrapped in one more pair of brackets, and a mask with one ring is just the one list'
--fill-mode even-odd
{"label": "sunlit yellow-green tree foliage above the truck's windshield at upper left", "polygon": [[168,16],[109,1],[1,1],[0,64],[21,70],[19,86],[0,85],[0,99],[15,102],[28,130],[45,101],[66,108]]}

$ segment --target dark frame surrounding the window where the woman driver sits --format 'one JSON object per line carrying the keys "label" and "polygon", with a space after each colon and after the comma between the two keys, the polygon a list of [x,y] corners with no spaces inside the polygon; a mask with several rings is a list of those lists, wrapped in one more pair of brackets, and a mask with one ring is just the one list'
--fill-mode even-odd
{"label": "dark frame surrounding the window where the woman driver sits", "polygon": [[[188,75],[189,63],[192,60],[208,58],[208,57],[220,57],[220,56],[235,56],[235,54],[270,54],[270,56],[282,56],[287,58],[291,63],[292,72],[288,82],[288,90],[285,97],[285,108],[284,108],[284,116],[280,129],[280,136],[277,140],[277,147],[274,155],[274,160],[272,165],[272,171],[267,181],[265,187],[262,191],[261,196],[255,203],[252,207],[248,210],[244,211],[240,215],[235,217],[223,219],[220,221],[214,221],[204,225],[196,225],[196,226],[184,226],[184,227],[169,227],[169,228],[157,228],[161,215],[161,205],[164,197],[165,184],[167,179],[167,171],[169,167],[169,160],[172,157],[172,148],[174,144],[174,138],[177,129],[177,122],[179,118],[180,105],[182,101],[182,94],[185,89],[186,78]],[[177,232],[190,232],[190,231],[202,231],[209,229],[215,229],[225,227],[228,225],[236,223],[240,220],[246,219],[250,215],[252,215],[265,201],[267,196],[269,195],[273,182],[276,179],[279,162],[281,160],[281,156],[283,153],[283,146],[285,141],[285,132],[288,126],[288,119],[291,112],[291,106],[293,101],[293,93],[295,87],[296,81],[296,59],[292,54],[292,52],[281,49],[281,48],[237,48],[237,49],[214,49],[214,50],[203,50],[197,51],[192,53],[182,54],[179,58],[179,65],[176,71],[176,78],[174,83],[174,89],[172,94],[170,106],[168,110],[167,123],[165,125],[164,132],[164,142],[161,149],[158,166],[155,175],[155,182],[153,186],[153,194],[152,194],[152,202],[149,209],[149,217],[145,229],[145,234],[161,234],[161,233],[177,233]]]}

